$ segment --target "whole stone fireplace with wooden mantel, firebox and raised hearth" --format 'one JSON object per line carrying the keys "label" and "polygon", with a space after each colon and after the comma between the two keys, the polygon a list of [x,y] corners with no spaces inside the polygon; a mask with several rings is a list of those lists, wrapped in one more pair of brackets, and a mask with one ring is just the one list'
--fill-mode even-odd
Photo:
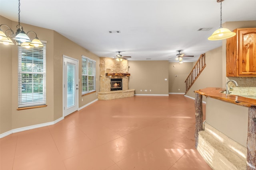
{"label": "whole stone fireplace with wooden mantel, firebox and raised hearth", "polygon": [[[116,61],[113,58],[100,57],[100,92],[98,92],[98,99],[111,100],[134,96],[134,89],[128,89],[129,77],[127,60]],[[120,79],[122,80],[121,84]],[[114,84],[112,84],[111,80],[118,81],[113,81]],[[114,87],[118,84],[122,89]],[[111,85],[113,85],[113,88]]]}

